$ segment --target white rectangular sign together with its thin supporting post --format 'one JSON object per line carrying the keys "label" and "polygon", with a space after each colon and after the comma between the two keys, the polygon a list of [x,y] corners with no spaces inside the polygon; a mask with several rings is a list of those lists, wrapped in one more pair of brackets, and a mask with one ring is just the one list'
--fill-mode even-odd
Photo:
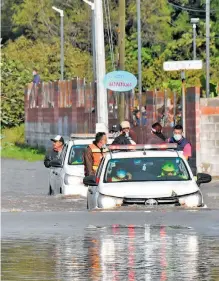
{"label": "white rectangular sign together with its thin supporting post", "polygon": [[185,90],[185,70],[202,69],[201,60],[186,60],[186,61],[166,61],[163,64],[164,71],[181,71],[182,80],[182,125],[184,135],[186,134],[186,90]]}

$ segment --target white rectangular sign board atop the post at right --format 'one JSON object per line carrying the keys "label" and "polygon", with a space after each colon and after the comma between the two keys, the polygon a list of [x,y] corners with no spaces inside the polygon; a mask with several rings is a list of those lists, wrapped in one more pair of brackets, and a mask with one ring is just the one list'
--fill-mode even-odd
{"label": "white rectangular sign board atop the post at right", "polygon": [[202,60],[165,61],[163,69],[165,71],[202,69]]}

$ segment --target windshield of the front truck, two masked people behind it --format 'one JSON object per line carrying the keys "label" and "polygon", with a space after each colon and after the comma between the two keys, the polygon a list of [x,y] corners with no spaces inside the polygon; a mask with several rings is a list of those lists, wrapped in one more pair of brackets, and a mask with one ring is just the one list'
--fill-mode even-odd
{"label": "windshield of the front truck, two masked people behind it", "polygon": [[190,175],[179,157],[142,157],[109,160],[104,182],[186,181]]}

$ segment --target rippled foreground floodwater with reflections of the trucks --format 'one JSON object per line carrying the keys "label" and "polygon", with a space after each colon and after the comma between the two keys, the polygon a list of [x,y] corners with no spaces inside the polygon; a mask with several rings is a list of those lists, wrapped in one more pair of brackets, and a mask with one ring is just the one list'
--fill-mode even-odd
{"label": "rippled foreground floodwater with reflections of the trucks", "polygon": [[83,237],[3,240],[2,280],[219,280],[219,238],[166,226],[88,227]]}

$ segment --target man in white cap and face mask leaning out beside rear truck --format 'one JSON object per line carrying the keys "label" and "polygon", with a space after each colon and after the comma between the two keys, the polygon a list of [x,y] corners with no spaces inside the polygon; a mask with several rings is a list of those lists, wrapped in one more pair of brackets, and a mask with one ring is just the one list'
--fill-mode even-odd
{"label": "man in white cap and face mask leaning out beside rear truck", "polygon": [[52,160],[59,158],[65,143],[63,137],[60,135],[57,135],[54,139],[51,139],[51,141],[53,142],[53,149],[46,153],[44,159],[44,165],[46,168],[51,167],[50,162]]}

